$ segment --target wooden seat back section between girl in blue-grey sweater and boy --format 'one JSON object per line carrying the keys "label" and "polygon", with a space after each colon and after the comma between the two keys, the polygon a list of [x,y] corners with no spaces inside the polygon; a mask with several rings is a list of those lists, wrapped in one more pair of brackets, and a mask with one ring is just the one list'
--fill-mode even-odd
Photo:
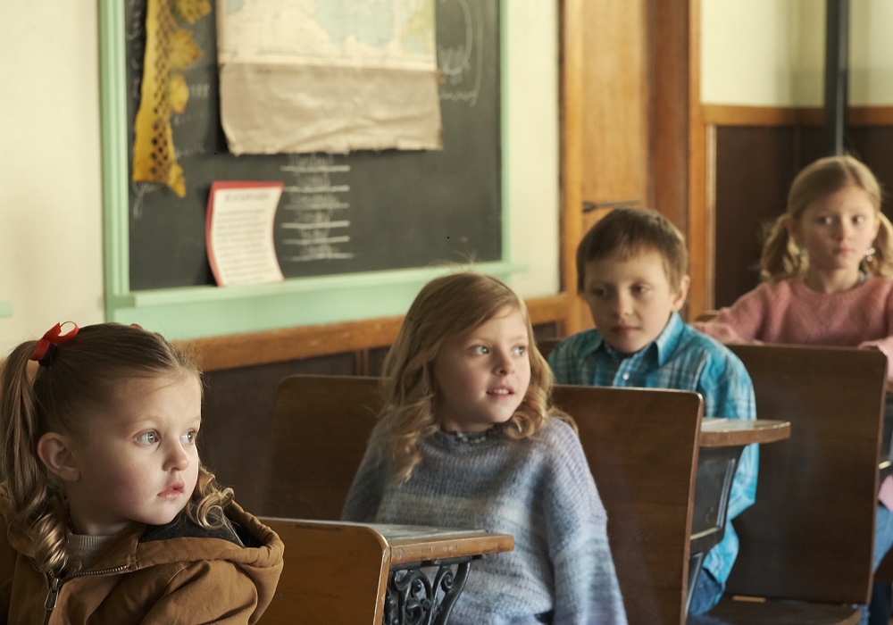
{"label": "wooden seat back section between girl in blue-grey sweater and boy", "polygon": [[630,623],[684,622],[701,396],[558,385],[554,399],[580,429]]}

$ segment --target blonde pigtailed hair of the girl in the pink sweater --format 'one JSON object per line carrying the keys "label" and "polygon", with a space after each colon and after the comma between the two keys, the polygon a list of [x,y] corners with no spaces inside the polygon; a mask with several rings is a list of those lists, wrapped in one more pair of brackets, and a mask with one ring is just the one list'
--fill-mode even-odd
{"label": "blonde pigtailed hair of the girl in the pink sweater", "polygon": [[865,192],[880,223],[872,242],[874,254],[862,262],[863,271],[872,276],[893,275],[893,225],[880,212],[880,184],[863,162],[844,154],[826,156],[806,165],[791,183],[787,211],[774,221],[763,245],[760,275],[764,280],[777,282],[805,274],[809,259],[790,237],[788,221],[799,221],[810,204],[846,187]]}

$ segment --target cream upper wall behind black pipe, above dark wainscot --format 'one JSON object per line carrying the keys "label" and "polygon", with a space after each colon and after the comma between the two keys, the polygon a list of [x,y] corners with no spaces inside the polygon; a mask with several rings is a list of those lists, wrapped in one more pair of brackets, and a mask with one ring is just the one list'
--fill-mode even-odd
{"label": "cream upper wall behind black pipe, above dark wainscot", "polygon": [[[893,104],[893,3],[850,3],[849,104]],[[701,0],[701,101],[821,106],[825,3]]]}

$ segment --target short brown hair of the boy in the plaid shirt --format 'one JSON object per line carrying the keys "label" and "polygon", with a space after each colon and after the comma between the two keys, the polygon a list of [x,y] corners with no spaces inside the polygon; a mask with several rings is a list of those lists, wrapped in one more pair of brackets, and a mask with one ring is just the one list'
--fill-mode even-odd
{"label": "short brown hair of the boy in the plaid shirt", "polygon": [[674,289],[689,270],[685,237],[661,213],[643,208],[615,208],[596,222],[577,246],[577,292],[586,289],[586,263],[615,254],[629,259],[642,250],[654,250],[663,258],[663,271]]}

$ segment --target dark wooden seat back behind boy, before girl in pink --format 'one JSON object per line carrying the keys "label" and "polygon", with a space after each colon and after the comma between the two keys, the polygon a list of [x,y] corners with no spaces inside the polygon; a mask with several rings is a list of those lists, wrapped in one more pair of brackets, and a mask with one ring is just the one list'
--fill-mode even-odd
{"label": "dark wooden seat back behind boy, before girl in pink", "polygon": [[790,421],[760,448],[756,503],[734,521],[731,595],[864,604],[872,579],[887,360],[845,347],[730,346],[761,419]]}

